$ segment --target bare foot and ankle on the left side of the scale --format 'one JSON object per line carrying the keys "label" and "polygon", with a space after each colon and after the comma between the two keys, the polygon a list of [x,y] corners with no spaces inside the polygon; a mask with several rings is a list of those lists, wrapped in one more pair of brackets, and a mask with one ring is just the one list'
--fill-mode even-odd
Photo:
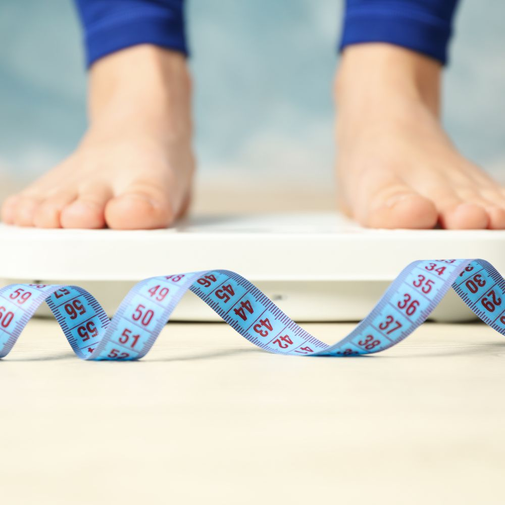
{"label": "bare foot and ankle on the left side of the scale", "polygon": [[90,70],[90,127],[79,147],[2,207],[9,224],[162,228],[186,209],[194,170],[184,57],[151,45]]}

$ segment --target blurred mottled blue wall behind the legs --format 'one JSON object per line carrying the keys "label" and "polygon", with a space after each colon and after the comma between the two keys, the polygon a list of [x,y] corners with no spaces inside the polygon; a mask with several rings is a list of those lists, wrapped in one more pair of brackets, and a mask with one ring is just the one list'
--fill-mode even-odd
{"label": "blurred mottled blue wall behind the legs", "polygon": [[[200,168],[330,180],[338,0],[189,0]],[[505,4],[463,1],[445,123],[470,158],[505,167]],[[85,120],[70,0],[0,3],[0,168],[35,175],[70,153]]]}

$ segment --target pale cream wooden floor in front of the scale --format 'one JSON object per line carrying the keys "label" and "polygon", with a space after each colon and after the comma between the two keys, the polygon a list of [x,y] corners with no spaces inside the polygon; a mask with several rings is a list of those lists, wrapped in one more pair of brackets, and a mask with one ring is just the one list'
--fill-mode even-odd
{"label": "pale cream wooden floor in front of the scale", "polygon": [[[304,326],[327,342],[351,328]],[[141,362],[88,363],[32,320],[0,363],[1,500],[502,504],[504,366],[479,323],[348,359],[169,323]]]}

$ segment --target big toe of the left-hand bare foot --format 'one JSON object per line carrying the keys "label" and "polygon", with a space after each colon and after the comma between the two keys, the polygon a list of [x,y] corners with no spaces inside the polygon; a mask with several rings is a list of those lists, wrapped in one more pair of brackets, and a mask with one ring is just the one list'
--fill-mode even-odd
{"label": "big toe of the left-hand bare foot", "polygon": [[120,230],[166,228],[175,218],[168,199],[149,192],[126,192],[109,201],[107,224]]}

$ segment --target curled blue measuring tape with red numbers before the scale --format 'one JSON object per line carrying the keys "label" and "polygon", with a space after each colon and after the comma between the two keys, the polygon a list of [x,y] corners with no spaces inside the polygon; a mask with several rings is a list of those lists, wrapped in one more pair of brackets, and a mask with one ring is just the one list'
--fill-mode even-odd
{"label": "curled blue measuring tape with red numbers before the scale", "polygon": [[0,289],[0,358],[45,301],[83,360],[138,360],[155,343],[189,289],[249,342],[290,356],[358,356],[412,333],[452,287],[485,323],[505,335],[505,280],[484,260],[423,260],[408,265],[372,312],[339,342],[321,342],[289,319],[247,279],[228,270],[151,277],[136,284],[112,320],[78,286],[11,284]]}

